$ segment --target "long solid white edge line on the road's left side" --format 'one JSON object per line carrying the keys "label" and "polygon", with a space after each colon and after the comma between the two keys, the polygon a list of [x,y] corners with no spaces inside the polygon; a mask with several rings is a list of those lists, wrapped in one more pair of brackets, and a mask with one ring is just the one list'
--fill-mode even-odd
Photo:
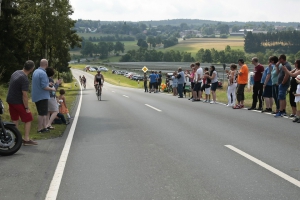
{"label": "long solid white edge line on the road's left side", "polygon": [[67,159],[68,159],[68,155],[69,155],[69,151],[71,148],[71,144],[72,144],[72,140],[73,140],[73,136],[74,136],[74,132],[75,132],[75,128],[77,125],[77,121],[78,121],[78,117],[79,117],[79,113],[80,113],[80,108],[81,108],[81,103],[82,103],[82,87],[80,87],[80,99],[79,99],[79,103],[78,103],[78,107],[77,107],[77,111],[70,129],[70,132],[68,134],[67,140],[65,142],[65,146],[62,150],[62,153],[60,155],[59,161],[57,163],[49,190],[47,192],[46,195],[46,200],[56,200],[57,198],[57,194],[59,191],[59,186],[61,183],[61,179],[64,173],[64,169],[67,163]]}

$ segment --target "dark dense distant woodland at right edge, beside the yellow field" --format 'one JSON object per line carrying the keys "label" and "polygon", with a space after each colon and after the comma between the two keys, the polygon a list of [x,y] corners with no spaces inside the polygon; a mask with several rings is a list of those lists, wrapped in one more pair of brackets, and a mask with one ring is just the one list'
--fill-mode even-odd
{"label": "dark dense distant woodland at right edge, beside the yellow field", "polygon": [[282,53],[295,54],[300,49],[300,31],[268,32],[267,34],[248,32],[244,48],[247,53],[273,49]]}

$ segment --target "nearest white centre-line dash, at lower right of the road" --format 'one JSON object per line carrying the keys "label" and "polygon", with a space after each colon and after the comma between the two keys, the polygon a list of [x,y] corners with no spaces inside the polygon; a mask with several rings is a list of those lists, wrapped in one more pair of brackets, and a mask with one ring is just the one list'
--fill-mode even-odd
{"label": "nearest white centre-line dash, at lower right of the road", "polygon": [[278,169],[264,163],[263,161],[261,160],[258,160],[257,158],[254,158],[253,156],[235,148],[234,146],[231,146],[231,145],[225,145],[225,147],[231,149],[232,151],[244,156],[245,158],[248,158],[249,160],[251,160],[252,162],[260,165],[261,167],[269,170],[270,172],[273,172],[274,174],[276,174],[277,176],[280,176],[281,178],[287,180],[288,182],[300,187],[300,181],[298,181],[297,179],[294,179],[293,177],[290,177],[289,175],[279,171]]}

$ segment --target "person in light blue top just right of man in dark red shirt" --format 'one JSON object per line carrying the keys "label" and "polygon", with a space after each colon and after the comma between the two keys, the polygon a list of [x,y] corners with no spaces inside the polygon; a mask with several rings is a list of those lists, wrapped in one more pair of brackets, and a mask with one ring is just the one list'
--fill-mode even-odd
{"label": "person in light blue top just right of man in dark red shirt", "polygon": [[266,108],[262,112],[272,113],[273,107],[273,98],[272,98],[272,79],[271,79],[271,70],[267,66],[264,70],[264,73],[261,78],[261,83],[263,84],[263,98],[266,103]]}

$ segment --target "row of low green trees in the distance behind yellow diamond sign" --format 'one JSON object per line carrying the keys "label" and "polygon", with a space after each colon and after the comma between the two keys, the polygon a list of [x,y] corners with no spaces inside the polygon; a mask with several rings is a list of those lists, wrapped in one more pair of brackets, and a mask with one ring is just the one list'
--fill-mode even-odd
{"label": "row of low green trees in the distance behind yellow diamond sign", "polygon": [[156,51],[140,48],[130,50],[120,59],[120,62],[194,62],[195,59],[189,52]]}

